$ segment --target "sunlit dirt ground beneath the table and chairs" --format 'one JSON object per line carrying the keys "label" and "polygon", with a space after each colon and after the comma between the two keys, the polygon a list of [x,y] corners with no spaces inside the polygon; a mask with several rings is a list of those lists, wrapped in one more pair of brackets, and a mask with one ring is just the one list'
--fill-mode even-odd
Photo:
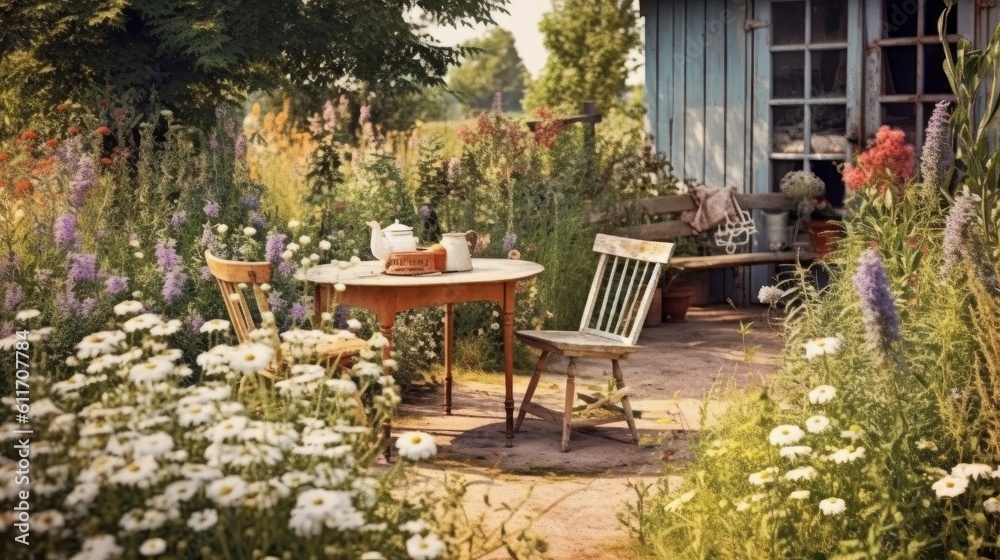
{"label": "sunlit dirt ground beneath the table and chairs", "polygon": [[[450,416],[444,414],[442,387],[413,388],[404,397],[393,433],[421,430],[434,435],[438,455],[423,472],[465,476],[466,508],[472,514],[487,513],[484,494],[492,504],[519,504],[508,526],[530,521],[532,533],[549,544],[548,558],[634,558],[627,532],[617,520],[625,501],[635,502],[631,485],[656,484],[665,462],[683,465],[703,407],[708,421],[724,407],[706,399],[713,388],[729,381],[741,386],[759,383],[777,368],[782,341],[773,315],[767,313],[759,306],[692,308],[686,323],[643,330],[643,348],[622,362],[632,407],[641,415],[636,419],[639,445],[630,442],[628,428],[620,422],[575,430],[569,452],[562,453],[561,427],[529,415],[515,434],[514,446],[505,447],[502,374],[456,377]],[[741,322],[753,323],[745,340]],[[610,362],[579,364],[577,392],[606,391]],[[565,361],[550,360],[534,402],[561,410],[565,369]],[[529,372],[515,376],[517,406],[528,377]],[[670,477],[668,482],[679,480]],[[489,514],[487,519],[500,517]],[[482,558],[508,557],[500,549]]]}

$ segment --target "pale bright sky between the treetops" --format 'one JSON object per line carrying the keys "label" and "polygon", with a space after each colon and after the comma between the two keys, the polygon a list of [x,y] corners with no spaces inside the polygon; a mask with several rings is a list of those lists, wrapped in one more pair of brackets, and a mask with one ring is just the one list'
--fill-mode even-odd
{"label": "pale bright sky between the treetops", "polygon": [[[542,34],[538,31],[538,22],[542,14],[552,10],[552,2],[548,0],[510,0],[507,11],[510,15],[497,13],[493,16],[497,25],[514,34],[514,46],[521,55],[525,68],[534,78],[545,65],[545,45],[542,44]],[[474,39],[485,33],[489,27],[432,27],[429,31],[442,44],[455,46]]]}

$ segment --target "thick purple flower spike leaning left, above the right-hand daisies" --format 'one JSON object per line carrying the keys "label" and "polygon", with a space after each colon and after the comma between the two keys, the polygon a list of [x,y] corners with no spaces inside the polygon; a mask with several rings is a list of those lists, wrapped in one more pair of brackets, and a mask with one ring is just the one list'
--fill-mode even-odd
{"label": "thick purple flower spike leaning left, above the right-hand daisies", "polygon": [[899,314],[882,259],[871,249],[866,249],[858,259],[854,289],[861,297],[861,320],[868,342],[888,354],[889,346],[902,339]]}

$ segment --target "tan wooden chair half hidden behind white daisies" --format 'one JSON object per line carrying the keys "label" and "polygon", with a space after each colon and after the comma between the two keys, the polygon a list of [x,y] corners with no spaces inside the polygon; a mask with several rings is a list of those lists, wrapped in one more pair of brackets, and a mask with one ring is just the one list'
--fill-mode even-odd
{"label": "tan wooden chair half hidden behind white daisies", "polygon": [[[228,261],[216,257],[211,251],[205,251],[205,262],[208,264],[208,270],[219,283],[222,300],[229,312],[233,330],[236,331],[236,340],[240,344],[248,342],[250,332],[255,330],[257,326],[254,324],[250,306],[247,304],[243,290],[240,289],[239,285],[246,284],[252,288],[259,313],[269,312],[271,306],[267,303],[267,294],[261,289],[261,284],[271,281],[271,263]],[[323,365],[342,363],[357,355],[366,346],[365,341],[358,339],[327,343],[319,349],[319,363]],[[282,344],[278,347],[276,360],[284,359],[288,355],[287,345]]]}

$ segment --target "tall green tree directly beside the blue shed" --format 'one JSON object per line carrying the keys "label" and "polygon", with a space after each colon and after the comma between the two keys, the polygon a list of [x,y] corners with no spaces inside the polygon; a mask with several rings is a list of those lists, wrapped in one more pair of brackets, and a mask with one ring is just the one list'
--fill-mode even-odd
{"label": "tall green tree directly beside the blue shed", "polygon": [[629,55],[642,45],[633,0],[553,0],[538,27],[549,56],[528,86],[526,108],[576,110],[592,100],[607,111],[622,104]]}

